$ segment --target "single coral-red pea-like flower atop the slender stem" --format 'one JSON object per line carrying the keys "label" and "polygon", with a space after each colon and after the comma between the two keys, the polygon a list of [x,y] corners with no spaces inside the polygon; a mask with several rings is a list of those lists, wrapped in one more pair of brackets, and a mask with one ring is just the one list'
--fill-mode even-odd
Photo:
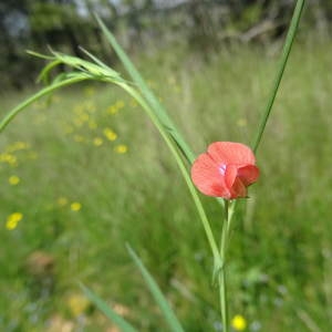
{"label": "single coral-red pea-like flower atop the slender stem", "polygon": [[194,162],[191,179],[205,195],[234,199],[247,197],[259,176],[252,151],[240,143],[215,142]]}

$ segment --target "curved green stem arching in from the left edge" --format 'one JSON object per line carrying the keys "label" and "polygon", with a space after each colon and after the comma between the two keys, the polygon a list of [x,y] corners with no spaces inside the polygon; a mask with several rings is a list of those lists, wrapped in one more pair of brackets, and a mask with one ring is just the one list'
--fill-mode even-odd
{"label": "curved green stem arching in from the left edge", "polygon": [[54,90],[58,90],[60,87],[66,86],[66,85],[71,85],[74,83],[79,83],[82,82],[84,80],[87,80],[89,77],[84,77],[83,75],[75,75],[72,79],[68,79],[65,81],[61,81],[58,83],[53,83],[52,85],[49,85],[44,89],[42,89],[41,91],[39,91],[38,93],[35,93],[34,95],[32,95],[31,97],[27,98],[25,101],[23,101],[22,103],[20,103],[18,106],[15,106],[13,110],[11,110],[6,116],[4,118],[2,118],[2,121],[0,122],[0,133],[6,128],[6,126],[24,108],[27,108],[29,105],[33,104],[35,101],[40,100],[41,97],[52,93]]}

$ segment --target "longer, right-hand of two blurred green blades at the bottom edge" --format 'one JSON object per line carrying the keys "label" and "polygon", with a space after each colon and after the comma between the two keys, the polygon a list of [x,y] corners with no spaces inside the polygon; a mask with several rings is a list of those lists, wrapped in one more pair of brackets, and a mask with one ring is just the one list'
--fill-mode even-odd
{"label": "longer, right-hand of two blurred green blades at the bottom edge", "polygon": [[152,278],[149,272],[146,270],[146,268],[144,267],[144,264],[143,264],[142,260],[139,259],[139,257],[135,253],[135,251],[128,245],[127,245],[127,250],[128,250],[133,261],[135,262],[135,264],[139,269],[139,272],[142,273],[145,282],[147,283],[149,291],[152,292],[153,297],[155,298],[155,301],[159,305],[159,308],[160,308],[160,310],[162,310],[162,312],[163,312],[170,330],[174,331],[174,332],[184,332],[184,329],[181,328],[181,325],[180,325],[179,321],[177,320],[176,315],[174,314],[174,312],[173,312],[172,308],[169,307],[167,300],[163,295],[159,287],[157,286],[155,280]]}

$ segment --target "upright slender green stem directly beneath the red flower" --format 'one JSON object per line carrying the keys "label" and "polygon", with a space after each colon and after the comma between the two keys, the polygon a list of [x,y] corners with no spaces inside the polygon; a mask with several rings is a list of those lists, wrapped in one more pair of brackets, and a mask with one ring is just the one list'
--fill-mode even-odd
{"label": "upright slender green stem directly beneath the red flower", "polygon": [[226,249],[229,228],[229,201],[225,199],[225,216],[220,239],[220,258],[222,268],[219,272],[219,297],[220,297],[220,312],[222,321],[222,331],[228,332],[228,304],[227,304],[227,283],[226,283]]}

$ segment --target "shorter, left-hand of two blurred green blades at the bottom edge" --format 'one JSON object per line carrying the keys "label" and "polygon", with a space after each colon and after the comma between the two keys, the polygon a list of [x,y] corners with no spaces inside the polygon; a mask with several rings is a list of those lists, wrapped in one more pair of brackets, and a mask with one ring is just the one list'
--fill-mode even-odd
{"label": "shorter, left-hand of two blurred green blades at the bottom edge", "polygon": [[117,325],[123,332],[138,332],[133,328],[126,320],[118,315],[105,301],[100,297],[93,293],[84,284],[80,283],[81,289],[83,290],[86,298],[96,305],[96,308],[103,312],[115,325]]}

